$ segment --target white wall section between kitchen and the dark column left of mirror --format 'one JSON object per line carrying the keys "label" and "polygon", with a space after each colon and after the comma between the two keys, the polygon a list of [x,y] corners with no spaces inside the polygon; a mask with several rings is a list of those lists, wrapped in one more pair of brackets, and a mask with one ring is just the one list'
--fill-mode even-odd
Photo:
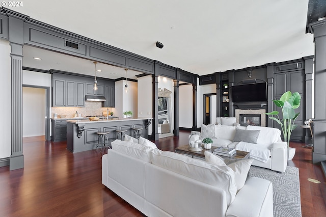
{"label": "white wall section between kitchen and the dark column left of mirror", "polygon": [[[153,85],[152,76],[147,75],[138,78],[138,117],[152,118],[153,114]],[[148,126],[148,134],[153,133],[152,122]]]}

